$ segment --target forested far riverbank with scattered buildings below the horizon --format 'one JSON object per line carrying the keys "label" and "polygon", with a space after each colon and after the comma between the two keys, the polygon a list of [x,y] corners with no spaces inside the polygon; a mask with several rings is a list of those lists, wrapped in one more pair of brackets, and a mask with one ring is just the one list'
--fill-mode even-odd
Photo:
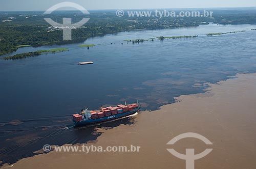
{"label": "forested far riverbank with scattered buildings below the horizon", "polygon": [[[180,10],[174,11],[176,13],[180,12]],[[123,31],[176,29],[180,27],[195,27],[200,24],[209,24],[209,22],[220,24],[256,24],[256,11],[251,8],[241,8],[238,10],[216,9],[214,10],[213,17],[158,18],[129,17],[126,14],[123,17],[117,17],[115,10],[90,11],[90,15],[79,14],[77,11],[57,11],[49,17],[58,23],[62,23],[63,16],[72,18],[73,23],[80,21],[84,17],[90,17],[91,19],[83,27],[77,27],[72,30],[72,40],[63,40],[62,30],[50,27],[51,25],[44,20],[45,15],[42,11],[0,12],[0,20],[13,18],[11,22],[0,22],[0,55],[14,52],[18,47],[24,46],[24,44],[38,47],[42,45],[81,43],[90,37],[115,34]],[[143,39],[143,41],[145,40]],[[131,41],[139,43],[142,40]]]}

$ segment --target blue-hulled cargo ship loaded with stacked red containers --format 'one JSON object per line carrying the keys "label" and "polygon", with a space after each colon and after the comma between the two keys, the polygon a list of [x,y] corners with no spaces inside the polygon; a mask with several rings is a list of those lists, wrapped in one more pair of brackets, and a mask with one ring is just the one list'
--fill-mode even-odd
{"label": "blue-hulled cargo ship loaded with stacked red containers", "polygon": [[139,112],[140,107],[141,106],[139,106],[138,103],[126,105],[125,102],[124,105],[119,104],[115,107],[109,106],[103,108],[103,106],[101,106],[101,110],[89,110],[88,108],[85,110],[82,109],[80,114],[74,114],[72,117],[76,126],[82,126],[130,116]]}

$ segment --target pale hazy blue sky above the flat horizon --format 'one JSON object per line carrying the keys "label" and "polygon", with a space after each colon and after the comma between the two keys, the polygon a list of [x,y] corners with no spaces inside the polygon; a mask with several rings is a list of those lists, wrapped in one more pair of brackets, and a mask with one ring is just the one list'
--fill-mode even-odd
{"label": "pale hazy blue sky above the flat horizon", "polygon": [[[69,0],[67,0],[69,1]],[[47,10],[63,0],[0,0],[0,11]],[[256,0],[70,0],[86,9],[256,7]]]}

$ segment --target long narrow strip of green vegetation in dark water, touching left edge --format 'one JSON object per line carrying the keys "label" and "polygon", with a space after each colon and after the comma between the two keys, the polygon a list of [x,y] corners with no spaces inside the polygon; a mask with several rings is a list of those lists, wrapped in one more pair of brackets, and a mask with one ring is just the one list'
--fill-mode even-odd
{"label": "long narrow strip of green vegetation in dark water, touching left edge", "polygon": [[62,51],[67,51],[67,50],[68,50],[68,48],[55,48],[55,49],[50,49],[50,50],[37,50],[37,51],[32,51],[32,52],[15,54],[13,56],[1,58],[1,59],[17,60],[17,59],[23,59],[23,58],[29,58],[29,57],[37,57],[38,55],[41,55],[43,53],[45,53],[45,54],[47,54],[49,52],[56,53],[56,52],[62,52]]}

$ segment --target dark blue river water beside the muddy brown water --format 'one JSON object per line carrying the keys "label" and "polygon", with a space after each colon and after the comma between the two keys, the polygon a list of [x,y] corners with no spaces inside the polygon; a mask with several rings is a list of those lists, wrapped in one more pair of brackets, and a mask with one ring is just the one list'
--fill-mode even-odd
{"label": "dark blue river water beside the muddy brown water", "polygon": [[[0,60],[0,160],[15,162],[45,144],[94,140],[95,126],[74,128],[70,115],[83,107],[136,102],[143,109],[172,103],[174,97],[203,92],[236,73],[256,70],[256,25],[132,31],[88,39],[79,44],[20,48],[15,53],[68,47],[69,51],[23,60]],[[206,33],[242,31],[205,37]],[[198,35],[139,44],[123,41],[159,36]],[[121,45],[123,42],[123,45]],[[113,43],[113,44],[111,44]],[[77,65],[92,61],[93,65]],[[129,125],[128,119],[100,127]],[[18,153],[17,153],[18,152]]]}

